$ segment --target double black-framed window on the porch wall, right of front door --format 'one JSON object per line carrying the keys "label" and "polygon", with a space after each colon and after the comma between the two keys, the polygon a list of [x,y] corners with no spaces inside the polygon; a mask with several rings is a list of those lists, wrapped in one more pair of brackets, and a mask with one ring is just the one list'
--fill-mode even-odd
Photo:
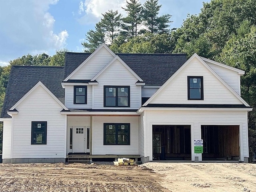
{"label": "double black-framed window on the porch wall, right of front door", "polygon": [[130,123],[104,123],[104,145],[129,145]]}

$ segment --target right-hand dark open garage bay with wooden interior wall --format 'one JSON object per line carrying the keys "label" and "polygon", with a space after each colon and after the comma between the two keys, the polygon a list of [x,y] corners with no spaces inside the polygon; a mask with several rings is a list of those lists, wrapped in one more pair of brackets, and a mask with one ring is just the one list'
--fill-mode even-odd
{"label": "right-hand dark open garage bay with wooden interior wall", "polygon": [[239,125],[202,125],[202,160],[239,160]]}

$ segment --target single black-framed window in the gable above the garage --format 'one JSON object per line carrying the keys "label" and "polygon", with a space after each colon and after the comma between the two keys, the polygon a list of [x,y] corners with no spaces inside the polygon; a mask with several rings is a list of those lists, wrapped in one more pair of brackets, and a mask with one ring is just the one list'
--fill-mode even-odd
{"label": "single black-framed window in the gable above the garage", "polygon": [[203,100],[203,77],[188,76],[188,99]]}

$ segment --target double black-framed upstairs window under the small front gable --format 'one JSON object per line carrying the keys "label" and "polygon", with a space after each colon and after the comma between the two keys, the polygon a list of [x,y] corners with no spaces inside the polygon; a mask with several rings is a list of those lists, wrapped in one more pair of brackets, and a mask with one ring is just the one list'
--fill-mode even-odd
{"label": "double black-framed upstairs window under the small front gable", "polygon": [[104,86],[104,107],[130,107],[130,86]]}

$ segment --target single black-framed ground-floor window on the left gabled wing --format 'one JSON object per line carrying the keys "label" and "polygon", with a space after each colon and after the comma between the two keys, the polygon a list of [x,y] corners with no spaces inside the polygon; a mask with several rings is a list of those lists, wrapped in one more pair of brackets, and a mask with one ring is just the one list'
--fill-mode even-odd
{"label": "single black-framed ground-floor window on the left gabled wing", "polygon": [[46,144],[47,121],[32,121],[31,144]]}

